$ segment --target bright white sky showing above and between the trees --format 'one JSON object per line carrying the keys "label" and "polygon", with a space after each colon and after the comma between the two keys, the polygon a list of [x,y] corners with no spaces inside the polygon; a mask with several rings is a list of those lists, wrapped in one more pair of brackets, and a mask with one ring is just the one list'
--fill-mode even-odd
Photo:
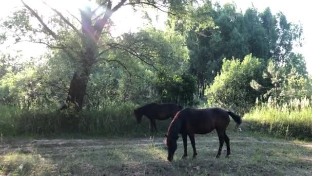
{"label": "bright white sky showing above and between the trees", "polygon": [[[39,12],[42,15],[51,15],[53,12],[49,10],[41,11],[40,9],[47,9],[46,6],[42,3],[41,0],[25,0],[32,7],[39,9]],[[72,13],[78,13],[78,8],[83,7],[86,0],[46,0],[47,4],[53,6],[59,10],[69,10]],[[113,1],[116,3],[118,1]],[[217,2],[217,0],[212,0],[212,3]],[[304,43],[303,47],[295,48],[296,52],[303,54],[306,60],[307,71],[309,74],[312,74],[312,52],[309,52],[309,49],[312,49],[312,23],[310,22],[310,6],[309,2],[305,0],[289,1],[289,0],[218,0],[221,5],[225,3],[235,2],[238,9],[245,11],[248,7],[255,6],[258,11],[263,11],[266,7],[271,9],[273,14],[282,11],[289,22],[292,23],[301,23],[303,26],[303,37]],[[21,7],[22,3],[19,0],[10,0],[6,1],[5,5],[0,6],[0,18],[5,19],[12,11],[16,8]],[[92,4],[93,7],[96,7],[96,4]],[[165,29],[164,22],[166,21],[167,14],[153,9],[146,9],[149,16],[153,17],[152,24],[159,28]],[[132,14],[132,15],[129,15]],[[157,16],[157,17],[156,17]],[[112,15],[112,21],[114,22],[113,36],[118,36],[123,32],[128,31],[137,31],[138,28],[143,28],[147,24],[147,20],[142,19],[142,12],[137,11],[133,12],[131,7],[126,6],[122,9],[116,11]],[[33,49],[36,48],[36,49]],[[30,43],[19,43],[15,45],[6,45],[0,46],[1,51],[14,51],[14,49],[23,50],[25,57],[37,56],[44,54],[45,46],[38,44]]]}

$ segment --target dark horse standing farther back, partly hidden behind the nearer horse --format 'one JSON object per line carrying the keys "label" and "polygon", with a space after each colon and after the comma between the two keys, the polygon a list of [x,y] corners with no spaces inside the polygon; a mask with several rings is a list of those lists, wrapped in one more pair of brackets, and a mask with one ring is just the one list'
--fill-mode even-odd
{"label": "dark horse standing farther back, partly hidden behind the nearer horse", "polygon": [[151,132],[153,128],[158,132],[156,121],[155,120],[165,120],[175,116],[177,112],[181,111],[183,108],[181,105],[174,103],[149,103],[144,105],[143,107],[137,108],[134,110],[134,115],[136,117],[136,121],[138,124],[141,123],[142,116],[145,115],[150,120]]}

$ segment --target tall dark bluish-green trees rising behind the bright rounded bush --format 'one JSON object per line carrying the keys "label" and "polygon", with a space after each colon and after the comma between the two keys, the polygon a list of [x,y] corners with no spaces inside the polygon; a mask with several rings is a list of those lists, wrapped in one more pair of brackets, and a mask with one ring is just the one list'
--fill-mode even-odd
{"label": "tall dark bluish-green trees rising behind the bright rounded bush", "polygon": [[188,8],[189,15],[171,17],[168,24],[186,33],[190,73],[199,80],[200,97],[220,72],[223,58],[242,60],[251,53],[263,65],[273,58],[277,64],[298,65],[306,74],[302,58],[292,52],[293,45],[301,46],[302,26],[288,23],[283,13],[274,15],[269,8],[258,12],[253,6],[240,12],[234,3],[221,7],[210,1]]}

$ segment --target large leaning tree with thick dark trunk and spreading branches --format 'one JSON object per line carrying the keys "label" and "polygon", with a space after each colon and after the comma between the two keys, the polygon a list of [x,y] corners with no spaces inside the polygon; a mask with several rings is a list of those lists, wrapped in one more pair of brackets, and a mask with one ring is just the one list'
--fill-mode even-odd
{"label": "large leaning tree with thick dark trunk and spreading branches", "polygon": [[[29,4],[30,2],[23,0],[21,2],[24,8],[14,12],[13,16],[4,23],[5,27],[15,30],[13,37],[15,37],[16,42],[41,43],[51,50],[61,50],[74,63],[75,71],[70,81],[68,96],[63,109],[68,107],[68,103],[72,103],[78,111],[83,108],[91,69],[106,51],[122,49],[139,58],[142,62],[150,64],[145,60],[149,57],[144,52],[143,54],[137,52],[136,49],[138,48],[131,48],[131,44],[125,46],[105,43],[105,40],[101,40],[101,37],[109,36],[109,27],[112,24],[110,17],[113,13],[122,9],[123,6],[132,6],[133,8],[150,6],[170,14],[173,14],[170,10],[173,7],[175,10],[181,8],[181,3],[171,3],[171,1],[120,0],[113,2],[102,0],[96,1],[99,6],[92,9],[92,1],[89,0],[89,5],[79,9],[80,15],[75,15],[69,11],[65,13],[42,1],[46,8],[55,13],[49,20],[46,20],[40,14],[40,9],[34,9]],[[33,19],[37,21],[36,25],[34,25]],[[133,43],[138,45],[139,42],[141,41],[136,40]],[[155,68],[152,64],[150,66]]]}

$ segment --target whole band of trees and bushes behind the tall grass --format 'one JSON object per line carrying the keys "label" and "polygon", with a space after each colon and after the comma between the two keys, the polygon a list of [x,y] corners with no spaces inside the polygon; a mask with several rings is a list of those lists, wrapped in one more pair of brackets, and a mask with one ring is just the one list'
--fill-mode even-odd
{"label": "whole band of trees and bushes behind the tall grass", "polygon": [[[21,0],[22,7],[3,20],[1,43],[38,43],[48,50],[23,63],[16,62],[23,56],[1,54],[1,103],[81,111],[112,102],[193,105],[208,99],[246,110],[266,95],[281,101],[310,96],[304,57],[294,51],[303,28],[282,12],[253,6],[242,12],[234,3],[211,1],[88,2],[97,6],[73,14]],[[166,30],[149,25],[112,36],[111,16],[124,6],[166,13]],[[46,10],[53,15],[43,15]]]}

